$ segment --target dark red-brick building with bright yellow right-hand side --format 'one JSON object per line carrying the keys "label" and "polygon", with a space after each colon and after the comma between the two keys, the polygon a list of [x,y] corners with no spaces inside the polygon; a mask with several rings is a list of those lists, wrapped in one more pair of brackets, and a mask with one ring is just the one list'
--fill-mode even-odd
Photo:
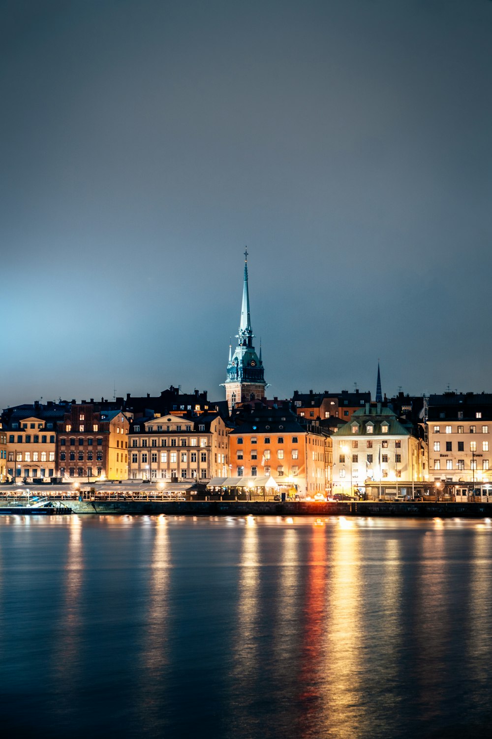
{"label": "dark red-brick building with bright yellow right-hand side", "polygon": [[129,427],[126,415],[105,403],[72,401],[58,433],[60,477],[126,480]]}

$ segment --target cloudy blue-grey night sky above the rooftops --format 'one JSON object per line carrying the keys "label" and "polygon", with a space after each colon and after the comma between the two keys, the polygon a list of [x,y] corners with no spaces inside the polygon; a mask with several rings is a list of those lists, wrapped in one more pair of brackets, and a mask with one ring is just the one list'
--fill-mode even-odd
{"label": "cloudy blue-grey night sky above the rooftops", "polygon": [[0,406],[492,390],[492,2],[0,1]]}

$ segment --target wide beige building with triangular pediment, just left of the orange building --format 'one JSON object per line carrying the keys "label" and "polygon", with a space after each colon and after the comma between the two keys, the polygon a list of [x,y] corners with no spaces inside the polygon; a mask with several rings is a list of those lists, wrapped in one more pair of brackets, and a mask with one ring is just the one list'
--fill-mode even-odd
{"label": "wide beige building with triangular pediment, just left of the orange building", "polygon": [[208,482],[229,471],[229,428],[218,413],[156,415],[131,423],[131,480]]}

